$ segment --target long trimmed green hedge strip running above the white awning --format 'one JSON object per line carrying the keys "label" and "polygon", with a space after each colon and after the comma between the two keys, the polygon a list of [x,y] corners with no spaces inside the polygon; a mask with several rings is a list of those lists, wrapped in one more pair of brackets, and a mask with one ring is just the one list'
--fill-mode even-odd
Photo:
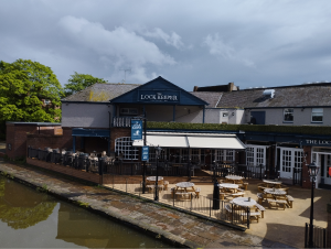
{"label": "long trimmed green hedge strip running above the white awning", "polygon": [[148,129],[188,130],[188,131],[256,131],[300,134],[331,134],[331,127],[322,126],[267,126],[267,124],[218,124],[184,122],[147,122]]}

